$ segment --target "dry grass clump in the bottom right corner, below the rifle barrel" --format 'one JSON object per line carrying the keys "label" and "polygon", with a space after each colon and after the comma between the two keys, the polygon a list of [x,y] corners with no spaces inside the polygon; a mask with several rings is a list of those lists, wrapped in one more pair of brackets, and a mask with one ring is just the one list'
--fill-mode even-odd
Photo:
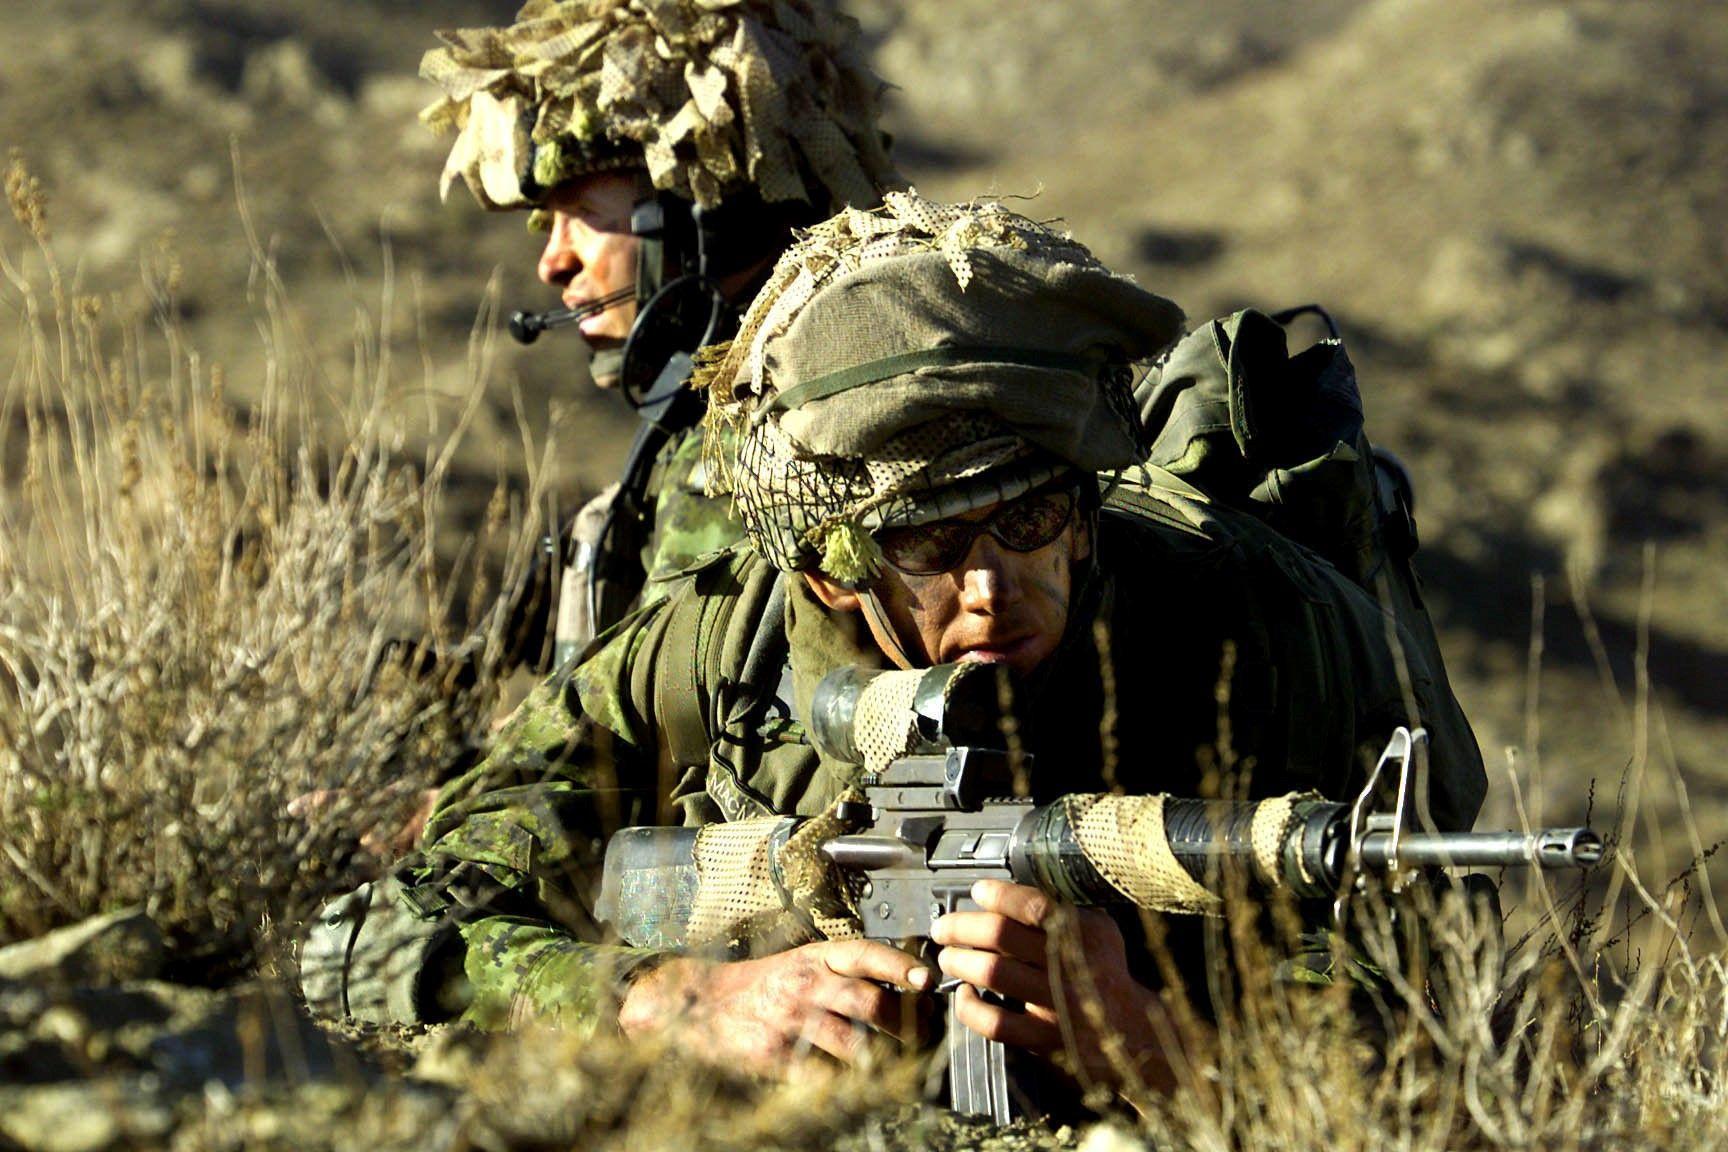
{"label": "dry grass clump in the bottom right corner, below the rifle barrel", "polygon": [[1460,895],[1417,898],[1396,921],[1374,900],[1358,914],[1384,986],[1272,984],[1267,959],[1242,948],[1218,1043],[1184,1092],[1139,1100],[1156,1147],[1714,1149],[1728,1136],[1721,955],[1681,946],[1626,972],[1564,934],[1509,950],[1498,917]]}

